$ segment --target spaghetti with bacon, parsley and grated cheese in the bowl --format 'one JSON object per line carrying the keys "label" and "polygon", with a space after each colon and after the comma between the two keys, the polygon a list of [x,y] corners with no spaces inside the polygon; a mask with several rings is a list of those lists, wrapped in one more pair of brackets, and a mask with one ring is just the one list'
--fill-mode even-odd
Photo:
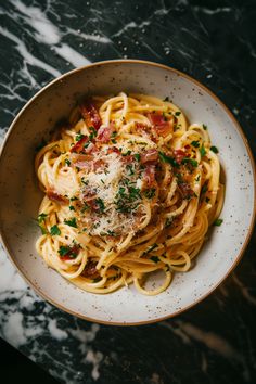
{"label": "spaghetti with bacon, parsley and grated cheese in the bowl", "polygon": [[36,156],[38,253],[85,291],[159,294],[221,223],[217,153],[168,98],[86,100]]}

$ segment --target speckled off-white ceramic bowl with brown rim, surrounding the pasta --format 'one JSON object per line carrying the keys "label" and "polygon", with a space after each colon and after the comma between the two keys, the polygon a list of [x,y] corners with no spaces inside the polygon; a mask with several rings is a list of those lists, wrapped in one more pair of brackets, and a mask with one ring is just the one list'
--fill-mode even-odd
{"label": "speckled off-white ceramic bowl with brown rim, surrounding the pasta", "polygon": [[[187,273],[177,273],[158,296],[133,286],[108,295],[84,292],[48,268],[35,249],[35,223],[42,193],[34,171],[35,149],[85,94],[141,92],[169,97],[191,123],[208,126],[226,178],[223,223],[215,227]],[[235,267],[255,217],[255,170],[246,139],[232,114],[208,89],[166,66],[143,61],[108,61],[72,71],[38,92],[14,119],[0,162],[2,241],[20,273],[47,300],[87,320],[141,324],[176,316],[210,294]]]}

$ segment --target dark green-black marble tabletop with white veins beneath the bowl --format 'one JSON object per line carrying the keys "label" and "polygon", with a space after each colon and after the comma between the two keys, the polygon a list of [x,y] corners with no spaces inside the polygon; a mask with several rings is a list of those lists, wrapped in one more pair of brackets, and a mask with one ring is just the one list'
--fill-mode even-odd
{"label": "dark green-black marble tabletop with white veins beneath the bowl", "polygon": [[[1,138],[43,85],[106,59],[164,63],[208,86],[256,153],[255,1],[0,0]],[[145,327],[88,323],[44,303],[0,257],[0,335],[65,383],[255,383],[256,235],[227,281]]]}

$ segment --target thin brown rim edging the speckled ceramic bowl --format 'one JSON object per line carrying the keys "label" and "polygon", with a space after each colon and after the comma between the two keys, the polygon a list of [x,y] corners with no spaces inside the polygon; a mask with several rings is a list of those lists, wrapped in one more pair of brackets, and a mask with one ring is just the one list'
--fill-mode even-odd
{"label": "thin brown rim edging the speckled ceramic bowl", "polygon": [[161,69],[165,69],[165,71],[169,71],[171,73],[175,73],[178,76],[181,76],[185,79],[188,79],[189,81],[195,84],[197,87],[201,87],[206,93],[208,93],[222,108],[223,111],[228,114],[228,116],[231,118],[232,123],[234,124],[234,126],[236,127],[240,136],[243,139],[243,142],[245,144],[246,148],[246,152],[248,154],[249,161],[251,161],[251,166],[252,166],[252,170],[253,170],[253,179],[254,179],[254,187],[253,187],[253,191],[254,191],[254,208],[253,208],[253,215],[252,215],[252,219],[249,222],[249,227],[248,227],[248,231],[246,234],[246,238],[244,240],[244,243],[242,245],[242,248],[240,251],[240,253],[238,254],[238,256],[235,257],[235,259],[233,260],[232,265],[230,266],[229,270],[221,277],[221,279],[209,290],[207,291],[207,293],[205,293],[203,296],[201,296],[200,298],[197,298],[195,302],[191,303],[190,305],[185,306],[184,308],[178,310],[175,313],[171,315],[166,315],[166,316],[162,316],[159,318],[156,319],[151,319],[151,320],[142,320],[142,321],[132,321],[132,322],[117,322],[117,321],[107,321],[107,320],[99,320],[99,319],[94,319],[81,313],[78,313],[72,309],[68,309],[66,307],[64,307],[62,304],[56,303],[53,298],[49,297],[44,292],[42,292],[40,290],[39,286],[37,286],[28,277],[26,277],[21,268],[18,267],[17,263],[14,260],[14,258],[11,255],[11,251],[9,249],[8,246],[8,242],[4,240],[4,233],[3,233],[3,229],[0,226],[0,240],[3,244],[3,248],[7,253],[7,255],[9,256],[9,259],[11,260],[11,263],[13,264],[13,266],[15,267],[15,269],[18,271],[20,276],[26,281],[26,283],[33,287],[33,290],[46,302],[50,303],[51,305],[53,305],[54,307],[57,307],[59,309],[63,310],[64,312],[67,312],[69,315],[73,315],[77,318],[80,318],[82,320],[87,320],[90,322],[95,322],[95,323],[100,323],[100,324],[105,324],[105,325],[119,325],[119,327],[124,327],[124,325],[144,325],[144,324],[151,324],[151,323],[156,323],[166,319],[170,319],[174,318],[178,315],[181,315],[183,312],[185,312],[187,310],[189,310],[190,308],[194,307],[196,304],[203,302],[206,297],[208,297],[215,290],[217,290],[217,287],[227,279],[227,277],[234,270],[234,268],[238,266],[238,264],[241,261],[242,256],[244,255],[244,252],[248,245],[248,242],[252,238],[253,234],[253,229],[254,229],[254,225],[256,221],[256,165],[255,165],[255,161],[254,161],[254,155],[253,152],[249,148],[248,144],[248,140],[241,127],[241,125],[239,124],[239,121],[236,120],[236,118],[234,117],[234,115],[232,114],[232,112],[227,107],[227,105],[212,91],[209,90],[206,86],[204,86],[201,81],[194,79],[193,77],[191,77],[190,75],[176,69],[171,66],[165,65],[165,64],[161,64],[161,63],[156,63],[156,62],[151,62],[151,61],[145,61],[145,60],[137,60],[137,59],[115,59],[115,60],[105,60],[105,61],[99,61],[99,62],[94,62],[88,65],[84,65],[81,67],[68,71],[67,73],[59,76],[57,78],[51,80],[50,82],[48,82],[46,86],[43,86],[33,98],[30,98],[28,100],[28,102],[21,108],[21,111],[18,112],[18,114],[16,115],[16,117],[13,119],[13,121],[11,123],[9,130],[5,135],[5,138],[3,140],[3,143],[1,145],[0,149],[0,162],[2,159],[2,155],[4,153],[4,149],[8,144],[10,135],[14,128],[14,126],[16,125],[16,121],[20,119],[21,115],[24,113],[24,111],[38,98],[40,97],[40,94],[42,92],[44,92],[48,88],[52,87],[55,82],[62,81],[63,79],[65,79],[68,76],[73,76],[75,73],[78,73],[80,71],[86,71],[88,68],[92,68],[92,67],[97,67],[97,66],[105,66],[105,65],[113,65],[113,64],[141,64],[141,65],[149,65],[149,66],[154,66]]}

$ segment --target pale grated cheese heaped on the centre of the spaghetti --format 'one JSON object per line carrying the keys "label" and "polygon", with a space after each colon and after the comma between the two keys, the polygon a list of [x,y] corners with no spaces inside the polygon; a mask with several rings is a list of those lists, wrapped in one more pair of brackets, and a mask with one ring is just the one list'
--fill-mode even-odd
{"label": "pale grated cheese heaped on the centre of the spaghetti", "polygon": [[[119,154],[113,152],[101,152],[94,156],[94,161],[103,161],[103,166],[95,171],[90,171],[84,176],[87,188],[95,193],[94,199],[100,199],[104,203],[104,212],[88,213],[85,217],[89,233],[92,235],[103,234],[126,234],[135,230],[137,225],[138,209],[129,213],[120,213],[116,206],[116,199],[121,184],[121,179],[128,180],[130,185],[141,190],[142,180],[138,178],[138,169],[133,174],[129,172]],[[129,193],[127,187],[123,187],[125,193]],[[138,197],[138,199],[137,199]],[[140,206],[141,197],[138,195],[132,200],[133,206]]]}

